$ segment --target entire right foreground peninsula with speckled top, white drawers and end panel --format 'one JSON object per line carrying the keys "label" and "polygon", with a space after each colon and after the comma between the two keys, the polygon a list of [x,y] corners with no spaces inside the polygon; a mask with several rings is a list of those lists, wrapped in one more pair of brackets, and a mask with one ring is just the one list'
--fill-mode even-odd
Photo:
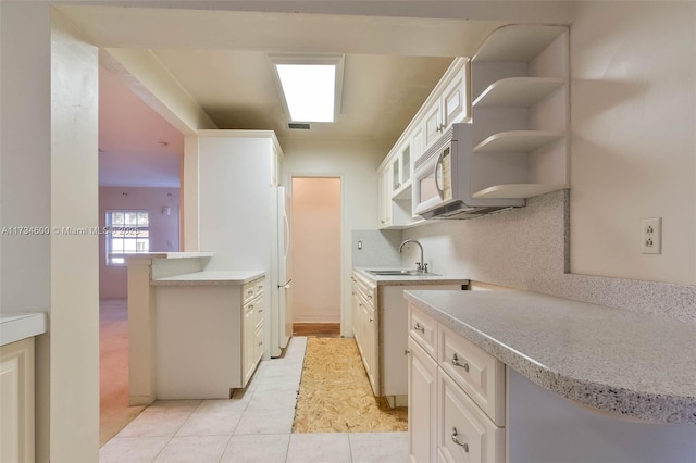
{"label": "entire right foreground peninsula with speckled top, white drawers and end panel", "polygon": [[415,461],[458,452],[510,462],[696,454],[693,326],[525,291],[406,298],[411,387],[435,396],[410,397],[409,413],[434,429],[412,429]]}

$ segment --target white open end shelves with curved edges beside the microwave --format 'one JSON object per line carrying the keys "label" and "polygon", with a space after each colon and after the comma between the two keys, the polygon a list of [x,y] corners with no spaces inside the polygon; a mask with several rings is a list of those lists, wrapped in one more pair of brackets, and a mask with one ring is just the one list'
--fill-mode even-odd
{"label": "white open end shelves with curved edges beside the microwave", "polygon": [[568,187],[568,80],[566,26],[510,25],[488,37],[471,63],[473,198]]}

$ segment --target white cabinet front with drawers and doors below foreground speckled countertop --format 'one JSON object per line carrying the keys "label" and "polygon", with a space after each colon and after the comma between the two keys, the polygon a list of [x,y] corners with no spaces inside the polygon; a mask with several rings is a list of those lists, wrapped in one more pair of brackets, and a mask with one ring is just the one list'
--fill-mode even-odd
{"label": "white cabinet front with drawers and doors below foreground speckled countertop", "polygon": [[505,364],[412,304],[408,346],[411,462],[505,462]]}

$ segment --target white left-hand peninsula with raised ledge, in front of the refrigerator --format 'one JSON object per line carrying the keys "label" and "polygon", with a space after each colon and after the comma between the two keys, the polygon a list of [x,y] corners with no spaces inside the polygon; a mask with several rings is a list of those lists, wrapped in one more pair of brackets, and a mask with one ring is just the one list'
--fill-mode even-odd
{"label": "white left-hand peninsula with raised ledge, in front of the refrigerator", "polygon": [[[158,398],[229,397],[229,389],[243,387],[253,373],[264,337],[265,273],[207,272],[212,255],[126,256],[132,405],[148,405]],[[249,346],[243,347],[244,341]],[[190,362],[185,365],[184,359]]]}

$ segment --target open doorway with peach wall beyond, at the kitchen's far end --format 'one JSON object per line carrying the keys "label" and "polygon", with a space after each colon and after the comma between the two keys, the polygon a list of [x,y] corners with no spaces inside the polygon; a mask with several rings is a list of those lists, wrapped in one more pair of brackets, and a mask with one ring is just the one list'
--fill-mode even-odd
{"label": "open doorway with peach wall beyond, at the kitchen's far end", "polygon": [[340,177],[293,177],[293,327],[340,336]]}

